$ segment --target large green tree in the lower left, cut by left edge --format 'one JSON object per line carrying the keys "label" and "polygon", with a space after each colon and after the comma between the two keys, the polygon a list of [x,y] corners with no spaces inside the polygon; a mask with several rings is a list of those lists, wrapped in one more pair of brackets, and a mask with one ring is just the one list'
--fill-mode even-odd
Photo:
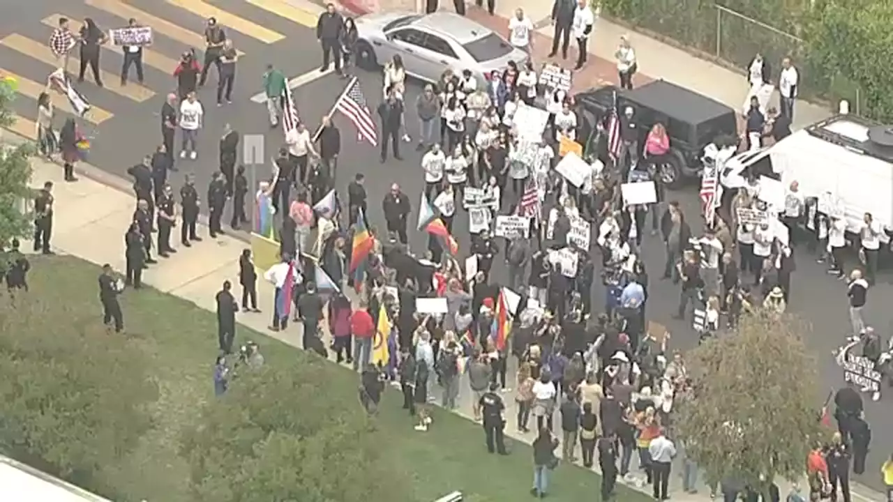
{"label": "large green tree in the lower left, cut by left edge", "polygon": [[101,471],[149,429],[158,390],[132,340],[68,306],[70,282],[0,297],[0,453],[108,493]]}

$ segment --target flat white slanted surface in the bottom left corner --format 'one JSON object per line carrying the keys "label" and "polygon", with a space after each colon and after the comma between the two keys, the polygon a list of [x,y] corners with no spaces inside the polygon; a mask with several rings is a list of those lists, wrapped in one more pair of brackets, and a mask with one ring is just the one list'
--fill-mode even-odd
{"label": "flat white slanted surface in the bottom left corner", "polygon": [[5,456],[0,456],[0,500],[4,502],[111,502]]}

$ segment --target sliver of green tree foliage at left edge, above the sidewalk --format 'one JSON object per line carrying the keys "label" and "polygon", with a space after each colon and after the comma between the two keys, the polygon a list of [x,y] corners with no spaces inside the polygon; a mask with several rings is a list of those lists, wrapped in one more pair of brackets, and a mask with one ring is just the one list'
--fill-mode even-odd
{"label": "sliver of green tree foliage at left edge, above the sidewalk", "polygon": [[[0,77],[0,128],[7,128],[15,122],[12,112],[14,98],[14,80]],[[31,197],[30,157],[34,154],[34,146],[9,145],[4,141],[3,134],[4,131],[0,131],[0,247],[8,245],[13,238],[27,236],[33,224],[32,216],[23,208]]]}

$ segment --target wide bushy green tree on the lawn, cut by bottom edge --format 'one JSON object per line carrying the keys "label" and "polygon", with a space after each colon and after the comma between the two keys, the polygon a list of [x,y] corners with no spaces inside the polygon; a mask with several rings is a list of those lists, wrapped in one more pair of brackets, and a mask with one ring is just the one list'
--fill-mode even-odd
{"label": "wide bushy green tree on the lawn, cut by bottom edge", "polygon": [[[237,369],[184,434],[197,502],[403,502],[408,483],[328,362]],[[350,375],[349,378],[355,378]],[[345,390],[350,389],[350,390]]]}

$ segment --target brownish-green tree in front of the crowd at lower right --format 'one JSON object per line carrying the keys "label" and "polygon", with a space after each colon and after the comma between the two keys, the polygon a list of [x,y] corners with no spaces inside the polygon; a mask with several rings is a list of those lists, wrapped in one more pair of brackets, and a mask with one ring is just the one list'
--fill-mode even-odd
{"label": "brownish-green tree in front of the crowd at lower right", "polygon": [[776,476],[803,475],[821,434],[809,331],[794,316],[758,311],[689,354],[692,391],[673,423],[712,481],[732,476],[762,490]]}

